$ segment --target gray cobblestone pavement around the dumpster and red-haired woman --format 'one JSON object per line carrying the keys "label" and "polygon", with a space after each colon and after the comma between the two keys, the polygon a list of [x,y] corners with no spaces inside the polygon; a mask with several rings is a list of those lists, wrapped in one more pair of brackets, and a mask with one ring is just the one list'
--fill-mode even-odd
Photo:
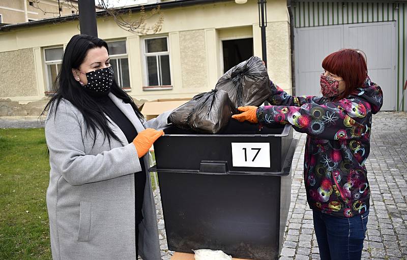
{"label": "gray cobblestone pavement around the dumpster and red-haired woman", "polygon": [[[370,155],[366,161],[371,187],[370,214],[362,259],[407,260],[407,113],[380,112],[373,116]],[[306,135],[299,139],[293,159],[290,210],[280,260],[320,259],[306,203],[303,180]],[[172,251],[165,240],[159,196],[155,193],[161,255],[169,260]]]}

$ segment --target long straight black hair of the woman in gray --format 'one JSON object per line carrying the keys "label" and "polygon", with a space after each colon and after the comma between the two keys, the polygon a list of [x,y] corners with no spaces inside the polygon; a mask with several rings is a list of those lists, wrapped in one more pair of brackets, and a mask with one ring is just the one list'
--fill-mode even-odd
{"label": "long straight black hair of the woman in gray", "polygon": [[[90,49],[105,47],[107,52],[109,49],[107,43],[97,37],[89,35],[75,35],[69,41],[62,58],[62,67],[56,77],[53,88],[55,93],[45,106],[41,113],[41,116],[48,112],[53,113],[56,116],[56,110],[62,99],[65,99],[72,103],[83,116],[83,120],[86,126],[86,135],[93,134],[94,145],[96,140],[96,132],[99,130],[104,135],[104,140],[108,139],[110,145],[110,137],[120,142],[120,139],[113,133],[112,129],[108,125],[108,119],[104,116],[103,108],[84,90],[84,88],[77,82],[73,75],[72,69],[79,70],[79,66],[82,64],[86,57],[86,54]],[[143,119],[143,115],[134,104],[132,98],[119,87],[119,85],[113,80],[110,92],[122,99],[125,103],[130,104],[138,116]],[[51,115],[49,115],[51,116]]]}

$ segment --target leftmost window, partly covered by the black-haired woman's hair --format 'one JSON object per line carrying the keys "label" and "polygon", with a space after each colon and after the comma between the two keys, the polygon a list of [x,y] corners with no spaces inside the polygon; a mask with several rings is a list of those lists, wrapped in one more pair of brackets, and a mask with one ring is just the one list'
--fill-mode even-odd
{"label": "leftmost window, partly covered by the black-haired woman's hair", "polygon": [[45,67],[47,73],[47,91],[52,91],[52,86],[56,80],[56,76],[61,69],[62,54],[64,49],[62,47],[44,49]]}

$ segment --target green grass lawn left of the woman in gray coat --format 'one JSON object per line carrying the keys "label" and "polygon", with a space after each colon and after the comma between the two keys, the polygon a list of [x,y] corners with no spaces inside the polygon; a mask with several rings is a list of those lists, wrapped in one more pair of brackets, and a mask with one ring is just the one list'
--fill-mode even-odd
{"label": "green grass lawn left of the woman in gray coat", "polygon": [[44,129],[0,129],[0,259],[51,259],[48,181]]}

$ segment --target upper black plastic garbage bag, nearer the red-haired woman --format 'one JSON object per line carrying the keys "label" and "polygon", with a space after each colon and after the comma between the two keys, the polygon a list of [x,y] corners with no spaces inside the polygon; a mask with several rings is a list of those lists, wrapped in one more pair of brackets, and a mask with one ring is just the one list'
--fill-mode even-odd
{"label": "upper black plastic garbage bag, nearer the red-haired woman", "polygon": [[226,91],[235,107],[258,107],[271,94],[267,69],[256,56],[228,70],[218,80],[215,88]]}

